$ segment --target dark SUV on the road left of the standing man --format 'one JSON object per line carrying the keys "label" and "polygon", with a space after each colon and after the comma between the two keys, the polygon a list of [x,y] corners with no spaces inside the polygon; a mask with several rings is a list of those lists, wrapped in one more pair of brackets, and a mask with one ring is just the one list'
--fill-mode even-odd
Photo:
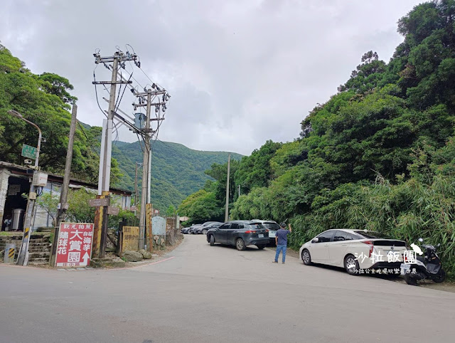
{"label": "dark SUV on the road left of the standing man", "polygon": [[245,250],[247,246],[264,249],[269,243],[269,231],[258,221],[228,221],[218,228],[210,228],[207,241],[210,246],[228,244],[237,250]]}

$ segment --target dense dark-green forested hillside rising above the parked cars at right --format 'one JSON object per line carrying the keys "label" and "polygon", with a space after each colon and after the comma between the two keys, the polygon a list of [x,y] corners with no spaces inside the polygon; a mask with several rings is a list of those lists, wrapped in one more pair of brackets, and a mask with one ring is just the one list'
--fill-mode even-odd
{"label": "dense dark-green forested hillside rising above the parked cars at right", "polygon": [[[329,228],[368,228],[441,243],[455,275],[455,1],[414,7],[388,63],[369,51],[349,80],[301,122],[294,142],[267,142],[235,164],[231,218],[294,224],[298,248]],[[373,46],[374,48],[374,46]],[[220,218],[225,166],[180,213]],[[241,187],[240,196],[237,186]],[[203,218],[195,209],[207,204]]]}

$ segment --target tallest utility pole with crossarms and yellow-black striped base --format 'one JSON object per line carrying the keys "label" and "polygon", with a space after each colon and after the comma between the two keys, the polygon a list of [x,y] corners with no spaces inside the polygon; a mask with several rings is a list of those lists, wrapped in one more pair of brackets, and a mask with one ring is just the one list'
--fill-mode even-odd
{"label": "tallest utility pole with crossarms and yellow-black striped base", "polygon": [[[103,120],[103,132],[100,152],[100,174],[98,176],[98,197],[105,196],[109,198],[109,184],[111,174],[111,154],[112,154],[112,127],[115,115],[115,95],[117,90],[117,84],[132,83],[132,81],[117,80],[119,72],[119,66],[124,66],[124,62],[127,60],[134,60],[137,63],[137,55],[130,53],[123,53],[122,51],[116,51],[114,56],[101,57],[100,53],[94,53],[95,64],[99,63],[110,63],[112,62],[112,77],[110,81],[94,81],[96,85],[111,85],[109,93],[109,107],[107,110],[107,120]],[[99,222],[95,223],[93,233],[93,255],[97,258],[105,257],[105,245],[107,241],[107,206],[97,207],[95,217],[102,218]],[[101,227],[100,227],[101,225]],[[100,242],[100,246],[98,246]]]}

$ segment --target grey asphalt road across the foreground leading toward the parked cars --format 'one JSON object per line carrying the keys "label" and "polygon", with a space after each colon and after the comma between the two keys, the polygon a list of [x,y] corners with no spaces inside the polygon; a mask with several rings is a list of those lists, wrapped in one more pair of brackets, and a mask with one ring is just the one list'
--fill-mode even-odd
{"label": "grey asphalt road across the foreground leading toward the parked cars", "polygon": [[454,342],[455,294],[186,236],[120,270],[0,265],[0,342]]}

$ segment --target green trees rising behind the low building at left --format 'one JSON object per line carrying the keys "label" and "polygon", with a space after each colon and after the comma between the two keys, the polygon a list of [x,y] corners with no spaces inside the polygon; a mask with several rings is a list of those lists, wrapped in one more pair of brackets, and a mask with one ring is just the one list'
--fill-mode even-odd
{"label": "green trees rising behind the low building at left", "polygon": [[[68,134],[70,132],[70,103],[77,100],[68,93],[73,85],[62,76],[52,73],[35,75],[21,60],[0,44],[0,160],[23,164],[22,144],[36,147],[38,132],[23,120],[7,113],[16,110],[35,123],[43,132],[40,167],[45,171],[63,173]],[[75,134],[72,176],[97,181],[101,128],[77,127]],[[119,179],[119,169],[112,162],[113,182]]]}

